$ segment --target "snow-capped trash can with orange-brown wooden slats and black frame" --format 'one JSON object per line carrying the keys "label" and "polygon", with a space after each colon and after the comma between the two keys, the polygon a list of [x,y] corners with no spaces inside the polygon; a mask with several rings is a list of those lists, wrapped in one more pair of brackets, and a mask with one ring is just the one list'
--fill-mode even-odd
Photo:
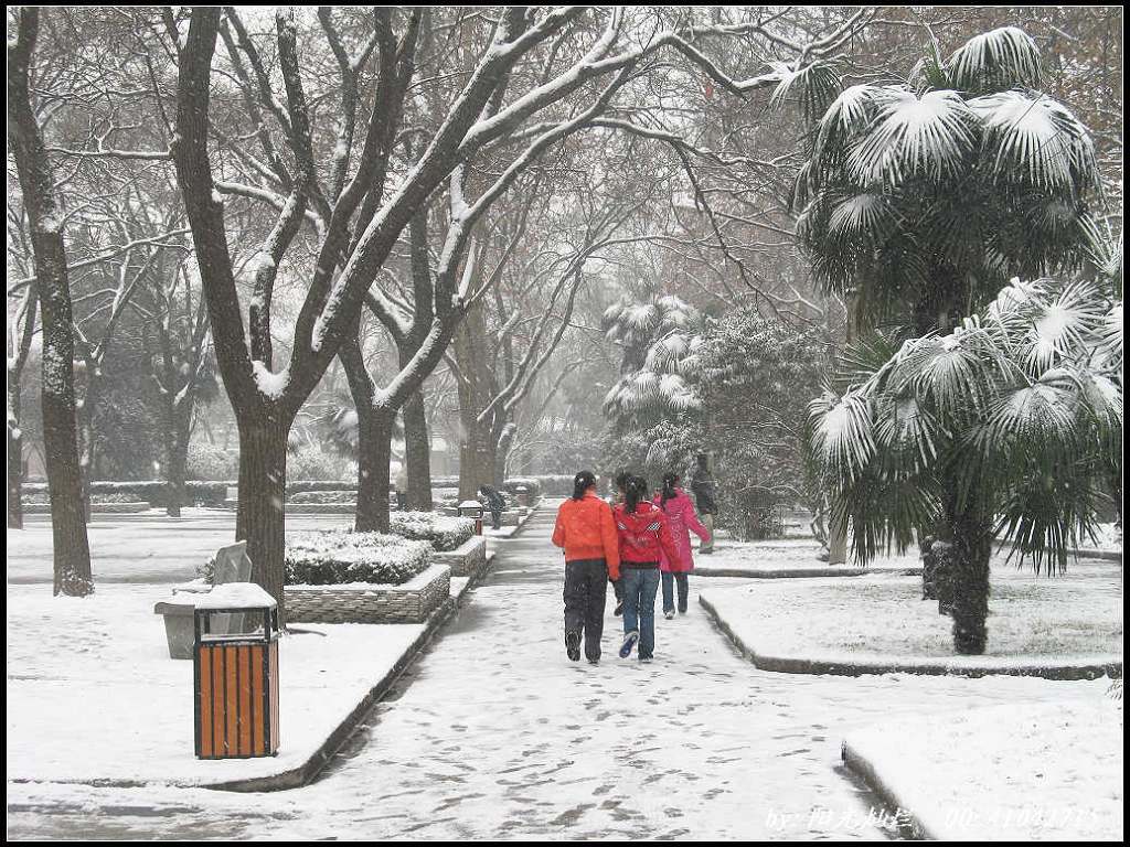
{"label": "snow-capped trash can with orange-brown wooden slats and black frame", "polygon": [[[279,749],[279,631],[275,599],[254,583],[195,601],[193,689],[199,759],[251,759]],[[238,613],[237,618],[224,617]],[[242,631],[214,623],[242,620]]]}

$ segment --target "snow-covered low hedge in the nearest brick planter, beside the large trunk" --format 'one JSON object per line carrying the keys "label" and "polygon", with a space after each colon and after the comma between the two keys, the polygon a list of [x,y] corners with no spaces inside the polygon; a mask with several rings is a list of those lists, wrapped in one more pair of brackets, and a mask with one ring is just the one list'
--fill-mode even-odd
{"label": "snow-covered low hedge in the nearest brick planter, beside the large trunk", "polygon": [[400,535],[328,530],[287,536],[287,585],[399,585],[432,564],[432,545]]}

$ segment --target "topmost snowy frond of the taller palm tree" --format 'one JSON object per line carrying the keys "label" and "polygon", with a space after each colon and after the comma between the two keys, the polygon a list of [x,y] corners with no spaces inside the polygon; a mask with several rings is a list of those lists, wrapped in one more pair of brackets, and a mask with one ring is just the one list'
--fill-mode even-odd
{"label": "topmost snowy frond of the taller palm tree", "polygon": [[1040,47],[1023,29],[1005,26],[970,38],[949,56],[950,84],[962,91],[991,91],[1041,84]]}

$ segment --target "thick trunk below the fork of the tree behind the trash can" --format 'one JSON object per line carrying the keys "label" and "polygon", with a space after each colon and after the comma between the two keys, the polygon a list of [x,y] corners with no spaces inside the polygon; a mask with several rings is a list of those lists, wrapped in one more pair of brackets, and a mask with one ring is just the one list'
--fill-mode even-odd
{"label": "thick trunk below the fork of the tree behind the trash can", "polygon": [[[251,420],[254,418],[254,420]],[[278,601],[280,625],[286,534],[286,443],[290,420],[261,409],[237,412],[240,427],[240,504],[235,538],[246,540],[251,578]]]}

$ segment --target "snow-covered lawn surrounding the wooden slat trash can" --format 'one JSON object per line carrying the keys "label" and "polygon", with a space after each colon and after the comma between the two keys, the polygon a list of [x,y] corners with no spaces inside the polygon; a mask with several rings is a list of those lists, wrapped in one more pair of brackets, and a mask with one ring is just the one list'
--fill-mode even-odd
{"label": "snow-covered lawn surrounding the wooden slat trash can", "polygon": [[276,758],[198,761],[192,662],[168,658],[156,585],[52,597],[8,586],[8,778],[209,784],[303,765],[423,626],[303,625],[279,648]]}

